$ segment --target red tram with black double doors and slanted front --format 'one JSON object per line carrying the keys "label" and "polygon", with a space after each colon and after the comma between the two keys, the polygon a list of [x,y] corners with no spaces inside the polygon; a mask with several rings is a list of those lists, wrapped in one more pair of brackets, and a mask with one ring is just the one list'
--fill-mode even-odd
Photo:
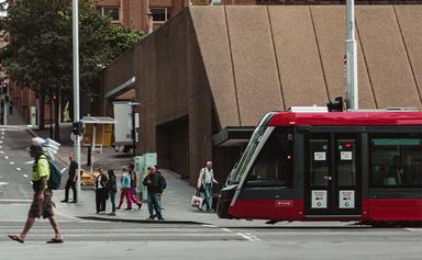
{"label": "red tram with black double doors and slanted front", "polygon": [[274,223],[421,222],[422,113],[268,113],[216,212]]}

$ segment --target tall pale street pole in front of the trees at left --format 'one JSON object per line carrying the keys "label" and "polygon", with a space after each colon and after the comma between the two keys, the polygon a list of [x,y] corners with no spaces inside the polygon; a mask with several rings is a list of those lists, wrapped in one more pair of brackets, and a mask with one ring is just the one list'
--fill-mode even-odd
{"label": "tall pale street pole in front of the trees at left", "polygon": [[[78,0],[71,0],[71,32],[74,54],[74,122],[79,122],[79,7]],[[74,155],[78,163],[76,171],[77,201],[80,203],[80,135],[74,135]]]}

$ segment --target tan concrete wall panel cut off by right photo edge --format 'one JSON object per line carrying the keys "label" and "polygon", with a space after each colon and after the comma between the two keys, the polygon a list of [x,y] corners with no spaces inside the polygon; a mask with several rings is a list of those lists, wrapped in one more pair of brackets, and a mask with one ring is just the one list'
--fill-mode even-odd
{"label": "tan concrete wall panel cut off by right photo edge", "polygon": [[[414,80],[422,95],[422,5],[396,5],[397,18],[401,27]],[[421,100],[422,102],[422,100]],[[422,105],[419,106],[422,109]]]}

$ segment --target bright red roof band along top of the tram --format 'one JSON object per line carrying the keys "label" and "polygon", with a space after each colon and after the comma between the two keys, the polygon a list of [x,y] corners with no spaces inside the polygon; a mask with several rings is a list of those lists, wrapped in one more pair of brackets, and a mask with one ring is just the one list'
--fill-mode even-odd
{"label": "bright red roof band along top of the tram", "polygon": [[325,113],[276,112],[268,125],[271,125],[271,126],[421,125],[422,126],[422,112],[325,112]]}

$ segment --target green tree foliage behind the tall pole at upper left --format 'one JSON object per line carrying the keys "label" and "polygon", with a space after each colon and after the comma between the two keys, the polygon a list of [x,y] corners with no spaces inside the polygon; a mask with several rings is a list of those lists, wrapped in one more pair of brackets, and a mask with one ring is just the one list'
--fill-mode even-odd
{"label": "green tree foliage behind the tall pole at upper left", "polygon": [[[69,0],[19,0],[8,7],[0,30],[11,35],[1,53],[9,78],[44,92],[73,86],[71,5]],[[98,71],[143,36],[116,27],[96,10],[93,0],[79,1],[80,86],[87,89]]]}

